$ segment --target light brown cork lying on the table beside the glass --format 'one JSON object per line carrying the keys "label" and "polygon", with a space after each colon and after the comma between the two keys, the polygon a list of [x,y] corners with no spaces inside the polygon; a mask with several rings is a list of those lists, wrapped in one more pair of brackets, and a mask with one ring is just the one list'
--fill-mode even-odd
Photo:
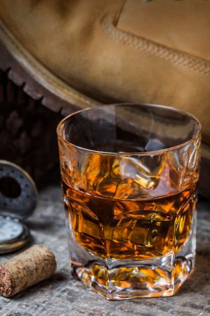
{"label": "light brown cork lying on the table beside the glass", "polygon": [[55,270],[52,251],[44,245],[34,245],[0,265],[0,295],[13,296],[50,278]]}

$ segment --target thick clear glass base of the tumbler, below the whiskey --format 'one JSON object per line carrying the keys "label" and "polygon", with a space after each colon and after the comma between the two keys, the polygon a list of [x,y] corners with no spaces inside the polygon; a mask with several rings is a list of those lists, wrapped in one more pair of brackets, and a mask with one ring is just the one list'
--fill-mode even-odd
{"label": "thick clear glass base of the tumbler, below the whiskey", "polygon": [[170,251],[162,257],[133,262],[101,260],[69,238],[72,274],[109,300],[171,296],[194,270],[194,232],[192,229],[186,244],[176,255]]}

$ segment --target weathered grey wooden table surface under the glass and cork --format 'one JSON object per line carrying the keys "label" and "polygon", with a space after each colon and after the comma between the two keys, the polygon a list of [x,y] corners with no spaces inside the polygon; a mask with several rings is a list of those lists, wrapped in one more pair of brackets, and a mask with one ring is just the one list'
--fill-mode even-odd
{"label": "weathered grey wooden table surface under the glass and cork", "polygon": [[[33,244],[55,254],[57,269],[11,298],[0,296],[1,316],[195,316],[210,315],[210,200],[199,197],[196,268],[175,296],[108,301],[69,273],[64,209],[59,180],[48,179],[34,214],[26,220]],[[19,251],[20,252],[20,251]],[[18,253],[18,252],[16,252]],[[0,264],[16,253],[0,255]]]}

